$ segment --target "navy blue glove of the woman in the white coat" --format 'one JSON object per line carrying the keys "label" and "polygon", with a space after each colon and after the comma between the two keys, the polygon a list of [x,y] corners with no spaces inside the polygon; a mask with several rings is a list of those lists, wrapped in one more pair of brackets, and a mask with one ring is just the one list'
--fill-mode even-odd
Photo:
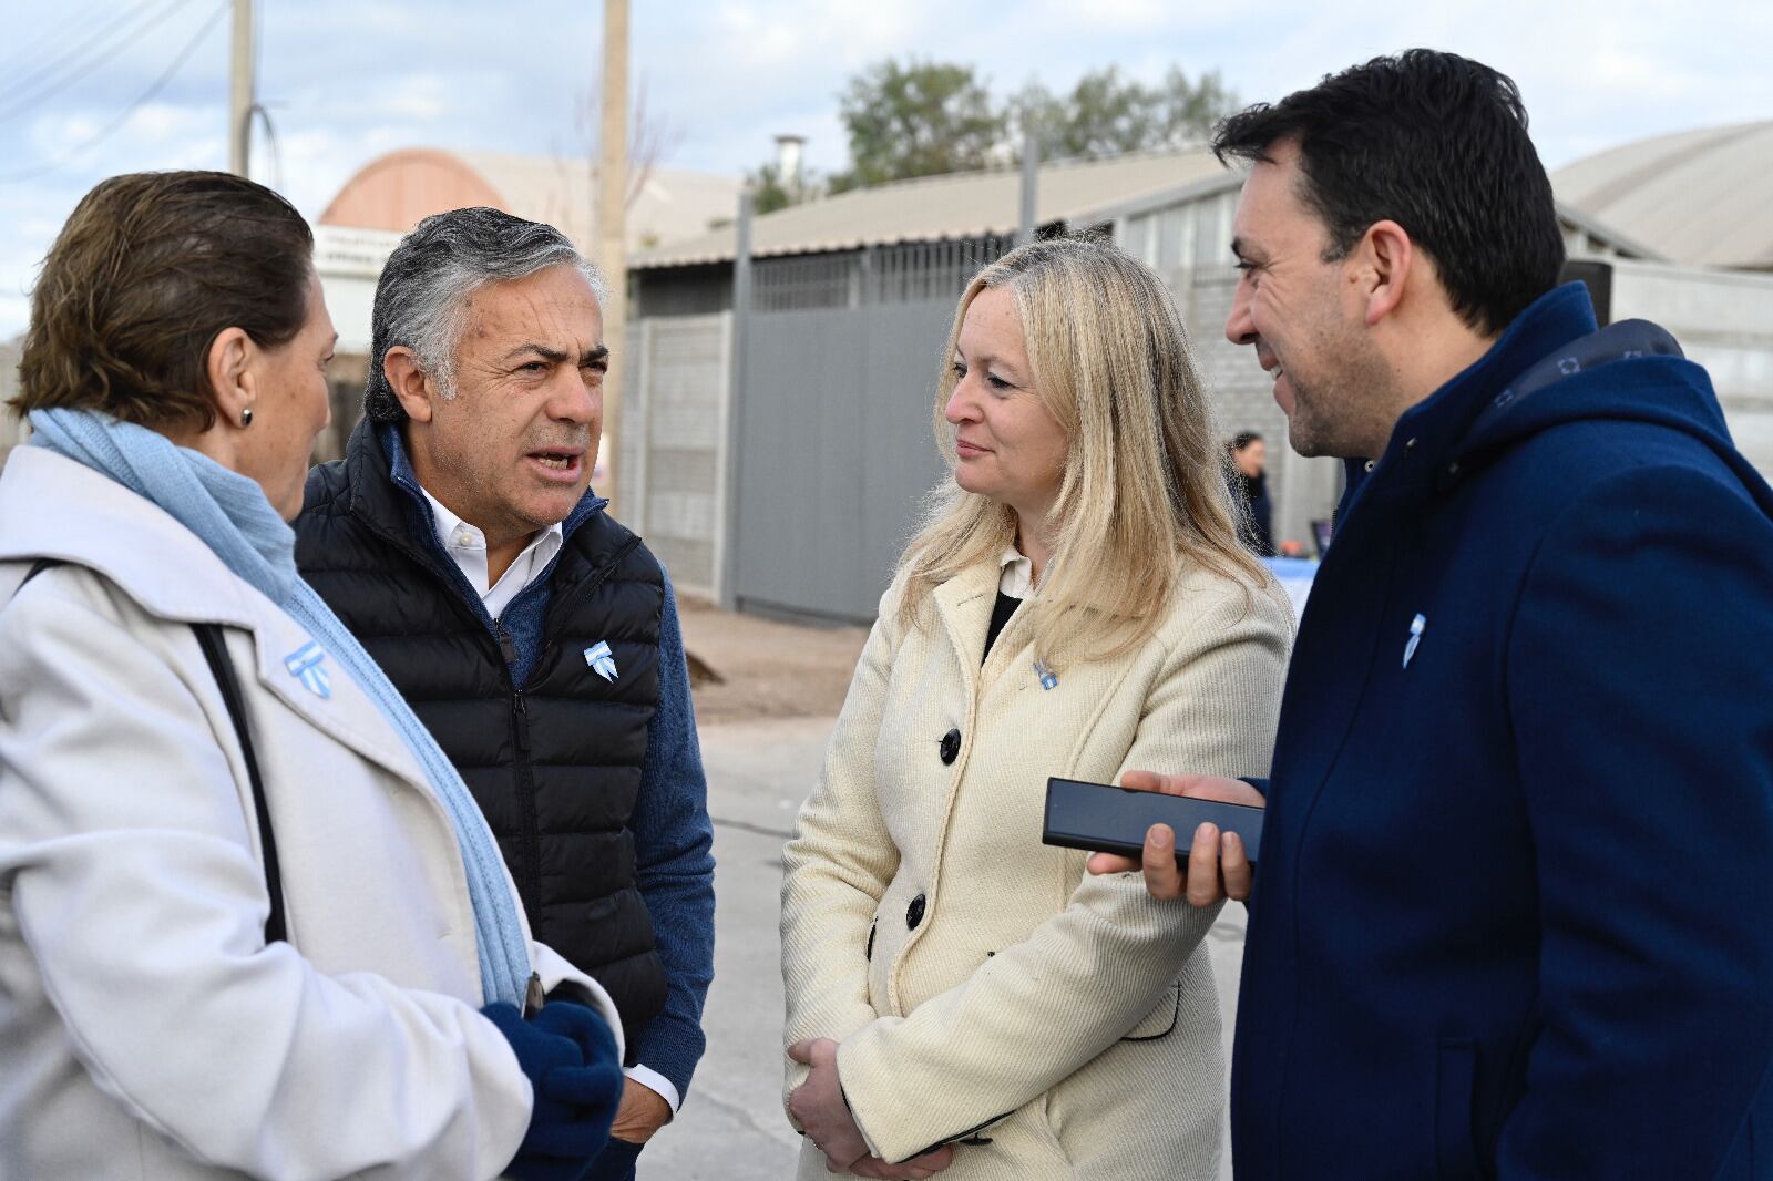
{"label": "navy blue glove of the woman in the white coat", "polygon": [[550,1002],[528,1021],[509,1004],[480,1014],[511,1043],[535,1089],[530,1128],[505,1172],[518,1181],[576,1181],[608,1144],[622,1101],[615,1034],[571,1000]]}

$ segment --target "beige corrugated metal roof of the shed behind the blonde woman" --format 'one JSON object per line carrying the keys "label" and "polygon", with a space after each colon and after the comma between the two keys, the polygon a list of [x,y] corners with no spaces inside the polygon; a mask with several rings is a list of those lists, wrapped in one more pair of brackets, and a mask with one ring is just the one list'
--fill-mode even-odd
{"label": "beige corrugated metal roof of the shed behind the blonde woman", "polygon": [[[1076,223],[1103,209],[1223,172],[1206,147],[1133,153],[1110,160],[1041,165],[1035,220]],[[1021,170],[954,172],[851,190],[789,206],[752,222],[752,255],[855,250],[901,241],[1014,234]],[[637,254],[631,268],[727,262],[734,231],[723,227]]]}

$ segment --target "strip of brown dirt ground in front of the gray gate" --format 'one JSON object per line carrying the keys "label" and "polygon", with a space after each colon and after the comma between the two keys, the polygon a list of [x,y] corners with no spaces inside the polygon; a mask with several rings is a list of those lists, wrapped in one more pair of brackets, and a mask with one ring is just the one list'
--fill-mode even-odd
{"label": "strip of brown dirt ground in front of the gray gate", "polygon": [[869,638],[867,628],[784,624],[691,598],[677,610],[697,722],[833,716]]}

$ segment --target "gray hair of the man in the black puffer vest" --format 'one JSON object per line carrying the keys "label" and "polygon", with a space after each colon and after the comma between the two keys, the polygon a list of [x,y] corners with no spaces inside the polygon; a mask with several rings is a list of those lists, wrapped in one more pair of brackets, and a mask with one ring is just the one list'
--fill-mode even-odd
{"label": "gray hair of the man in the black puffer vest", "polygon": [[456,346],[466,325],[468,296],[486,284],[525,278],[550,266],[576,268],[598,303],[608,301],[603,273],[551,225],[484,206],[434,213],[420,222],[388,255],[376,284],[363,417],[406,420],[381,367],[388,349],[397,346],[413,351],[443,397],[454,397]]}

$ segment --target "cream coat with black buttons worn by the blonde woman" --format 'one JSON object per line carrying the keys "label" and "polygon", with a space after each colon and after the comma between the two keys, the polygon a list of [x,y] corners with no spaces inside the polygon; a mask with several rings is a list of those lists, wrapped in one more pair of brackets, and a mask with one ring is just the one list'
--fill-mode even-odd
{"label": "cream coat with black buttons worn by the blonde woman", "polygon": [[[1291,612],[1271,585],[1186,575],[1156,638],[1043,690],[1019,615],[980,669],[996,585],[995,564],[965,571],[910,631],[897,589],[881,601],[785,851],[785,1043],[842,1043],[846,1096],[885,1160],[1004,1117],[945,1181],[1213,1177],[1216,911],[1043,846],[1044,789],[1129,768],[1266,773]],[[787,1091],[803,1078],[791,1064]],[[810,1142],[800,1176],[828,1176]]]}

